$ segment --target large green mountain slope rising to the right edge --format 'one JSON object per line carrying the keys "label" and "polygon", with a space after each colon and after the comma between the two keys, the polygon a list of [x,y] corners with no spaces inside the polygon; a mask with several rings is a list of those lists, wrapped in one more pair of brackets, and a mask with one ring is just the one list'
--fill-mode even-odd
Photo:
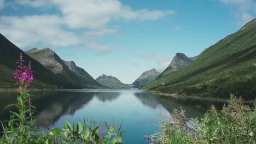
{"label": "large green mountain slope rising to the right edge", "polygon": [[253,99],[255,81],[256,19],[205,49],[184,69],[163,75],[142,89],[218,98],[234,93]]}

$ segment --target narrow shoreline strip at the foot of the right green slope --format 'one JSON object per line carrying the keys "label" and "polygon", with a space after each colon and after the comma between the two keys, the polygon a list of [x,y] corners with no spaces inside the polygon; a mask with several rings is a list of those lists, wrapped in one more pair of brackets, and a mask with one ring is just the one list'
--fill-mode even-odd
{"label": "narrow shoreline strip at the foot of the right green slope", "polygon": [[[149,91],[149,92],[153,93],[153,94],[164,95],[164,96],[167,96],[167,97],[173,97],[173,98],[177,98],[177,99],[195,99],[195,100],[207,100],[207,101],[218,101],[218,102],[229,103],[229,99],[205,98],[205,97],[197,97],[197,96],[194,96],[194,95],[184,96],[184,95],[177,95],[177,94],[170,94],[170,93],[159,93],[157,91]],[[253,104],[254,100],[245,100],[243,102]]]}

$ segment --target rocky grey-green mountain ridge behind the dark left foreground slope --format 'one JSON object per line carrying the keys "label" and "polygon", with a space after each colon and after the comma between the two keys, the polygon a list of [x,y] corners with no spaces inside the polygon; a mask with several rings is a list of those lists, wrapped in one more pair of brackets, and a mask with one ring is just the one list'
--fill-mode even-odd
{"label": "rocky grey-green mountain ridge behind the dark left foreground slope", "polygon": [[74,62],[63,61],[53,50],[33,48],[26,51],[27,55],[36,59],[46,69],[60,74],[65,79],[82,85],[83,88],[102,87],[84,69],[77,67]]}

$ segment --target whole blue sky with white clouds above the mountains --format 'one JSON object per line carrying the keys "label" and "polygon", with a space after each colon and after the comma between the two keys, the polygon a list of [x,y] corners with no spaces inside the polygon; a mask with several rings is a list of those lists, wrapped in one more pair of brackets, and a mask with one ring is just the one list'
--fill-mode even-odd
{"label": "whole blue sky with white clouds above the mountains", "polygon": [[94,79],[132,83],[256,17],[255,0],[0,0],[0,33],[20,49],[49,47]]}

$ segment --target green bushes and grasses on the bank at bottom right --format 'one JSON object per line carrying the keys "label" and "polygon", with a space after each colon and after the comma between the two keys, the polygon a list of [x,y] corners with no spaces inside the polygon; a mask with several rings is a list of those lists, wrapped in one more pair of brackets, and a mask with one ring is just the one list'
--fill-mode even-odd
{"label": "green bushes and grasses on the bank at bottom right", "polygon": [[162,122],[159,131],[148,138],[153,143],[256,143],[255,104],[252,109],[241,97],[231,95],[228,106],[217,111],[212,105],[200,121],[187,118],[183,109],[176,110],[172,120]]}

